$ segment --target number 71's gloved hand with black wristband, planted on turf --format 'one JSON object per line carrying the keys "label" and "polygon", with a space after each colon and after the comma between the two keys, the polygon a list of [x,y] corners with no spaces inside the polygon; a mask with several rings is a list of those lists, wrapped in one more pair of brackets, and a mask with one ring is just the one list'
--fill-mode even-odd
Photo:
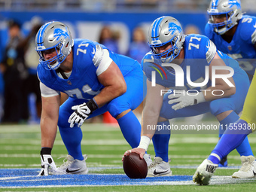
{"label": "number 71's gloved hand with black wristband, planted on turf", "polygon": [[41,171],[38,176],[49,175],[49,168],[53,169],[53,172],[57,171],[53,157],[50,154],[51,148],[42,148],[41,150]]}

